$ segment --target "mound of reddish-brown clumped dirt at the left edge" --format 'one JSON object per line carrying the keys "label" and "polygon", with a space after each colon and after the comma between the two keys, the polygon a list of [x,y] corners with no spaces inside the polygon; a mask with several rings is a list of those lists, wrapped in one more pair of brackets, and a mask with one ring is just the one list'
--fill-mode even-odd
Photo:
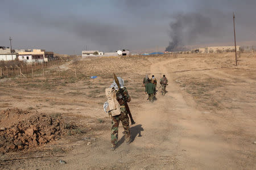
{"label": "mound of reddish-brown clumped dirt at the left edge", "polygon": [[77,128],[75,125],[65,123],[60,114],[33,114],[18,108],[7,109],[0,114],[3,117],[0,122],[1,126],[3,121],[9,122],[14,117],[22,117],[22,115],[24,117],[24,114],[30,114],[18,123],[3,127],[5,129],[2,128],[0,131],[1,153],[42,146],[62,135],[75,133]]}

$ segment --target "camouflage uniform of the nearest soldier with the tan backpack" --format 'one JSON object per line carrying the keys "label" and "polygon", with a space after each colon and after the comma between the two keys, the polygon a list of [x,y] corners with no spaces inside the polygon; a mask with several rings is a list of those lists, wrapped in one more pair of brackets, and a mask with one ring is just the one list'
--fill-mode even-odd
{"label": "camouflage uniform of the nearest soldier with the tan backpack", "polygon": [[[131,98],[128,94],[128,91],[126,87],[122,88],[123,90],[123,95],[125,96],[126,102],[130,102]],[[111,128],[111,144],[112,147],[115,147],[117,145],[117,140],[118,140],[118,126],[119,122],[122,122],[123,129],[124,129],[124,134],[125,134],[125,140],[127,143],[131,141],[131,135],[130,135],[130,126],[129,126],[129,117],[128,113],[125,108],[125,104],[122,99],[120,99],[120,92],[119,90],[117,91],[117,101],[119,102],[121,106],[121,114],[118,114],[117,116],[112,117],[112,128]]]}

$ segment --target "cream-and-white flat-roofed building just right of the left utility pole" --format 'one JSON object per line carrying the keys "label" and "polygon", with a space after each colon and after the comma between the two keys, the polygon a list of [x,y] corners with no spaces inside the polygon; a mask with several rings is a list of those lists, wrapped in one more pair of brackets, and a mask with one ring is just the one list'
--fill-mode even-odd
{"label": "cream-and-white flat-roofed building just right of the left utility pole", "polygon": [[17,50],[19,61],[24,62],[47,62],[53,58],[53,52],[46,52],[43,49]]}

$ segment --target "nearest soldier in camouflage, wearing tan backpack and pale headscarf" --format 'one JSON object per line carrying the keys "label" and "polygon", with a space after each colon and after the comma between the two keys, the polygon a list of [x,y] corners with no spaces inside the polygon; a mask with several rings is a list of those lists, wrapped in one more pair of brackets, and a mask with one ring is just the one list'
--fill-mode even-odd
{"label": "nearest soldier in camouflage, wearing tan backpack and pale headscarf", "polygon": [[[117,77],[118,82],[121,86],[122,94],[125,97],[126,102],[130,102],[131,98],[125,87],[125,83],[122,78]],[[123,125],[123,134],[125,135],[125,141],[127,144],[131,143],[129,117],[127,110],[125,108],[125,102],[122,99],[122,94],[118,89],[117,83],[114,83],[110,88],[106,89],[106,96],[108,97],[108,102],[104,104],[104,110],[106,113],[112,117],[112,128],[111,128],[111,150],[115,150],[118,141],[118,126],[119,122]]]}

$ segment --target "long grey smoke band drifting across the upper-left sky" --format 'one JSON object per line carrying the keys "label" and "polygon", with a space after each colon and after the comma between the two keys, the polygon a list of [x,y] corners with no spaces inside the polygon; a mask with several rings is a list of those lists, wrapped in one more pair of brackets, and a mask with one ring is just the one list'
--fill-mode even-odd
{"label": "long grey smoke band drifting across the upper-left sky", "polygon": [[[6,1],[3,6],[11,6],[13,4],[13,1]],[[11,12],[8,8],[1,7],[1,5],[0,10],[6,11],[6,14],[15,24],[29,25],[39,34],[42,29],[61,32],[64,35],[62,43],[68,41],[65,40],[65,35],[68,35],[69,37],[76,37],[77,41],[100,45],[109,50],[117,49],[117,44],[122,44],[123,40],[127,39],[127,32],[129,32],[123,25],[100,20],[97,17],[93,18],[70,12],[61,14],[47,13],[42,11],[42,8],[36,10],[30,6],[22,5],[21,2],[18,2],[18,5],[20,8],[16,8]]]}

